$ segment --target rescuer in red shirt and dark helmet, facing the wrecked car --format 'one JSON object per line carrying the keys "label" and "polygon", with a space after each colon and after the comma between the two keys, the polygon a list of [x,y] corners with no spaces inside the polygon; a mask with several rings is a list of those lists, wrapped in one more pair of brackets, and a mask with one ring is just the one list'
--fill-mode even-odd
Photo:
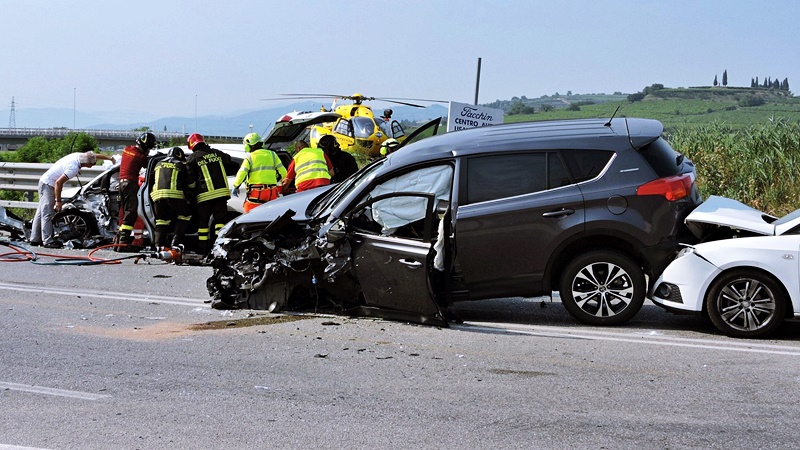
{"label": "rescuer in red shirt and dark helmet, facing the wrecked car", "polygon": [[153,133],[142,133],[136,138],[135,145],[129,145],[122,151],[119,165],[119,203],[121,223],[114,241],[117,244],[130,245],[133,242],[133,225],[139,218],[137,209],[139,200],[139,171],[147,165],[147,154],[156,146]]}

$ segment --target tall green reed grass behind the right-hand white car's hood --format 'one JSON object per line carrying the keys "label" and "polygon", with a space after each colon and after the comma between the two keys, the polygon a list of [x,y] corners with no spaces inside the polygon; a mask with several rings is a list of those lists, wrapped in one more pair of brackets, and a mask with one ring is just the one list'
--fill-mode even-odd
{"label": "tall green reed grass behind the right-hand white car's hood", "polygon": [[733,130],[712,123],[666,137],[694,162],[704,197],[733,198],[776,216],[800,209],[800,124],[770,119]]}

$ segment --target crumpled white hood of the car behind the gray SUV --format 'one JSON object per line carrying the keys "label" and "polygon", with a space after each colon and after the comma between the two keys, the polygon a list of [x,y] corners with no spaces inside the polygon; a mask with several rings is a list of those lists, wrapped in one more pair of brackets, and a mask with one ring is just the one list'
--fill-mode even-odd
{"label": "crumpled white hood of the car behind the gray SUV", "polygon": [[712,195],[686,217],[686,226],[702,238],[704,224],[773,236],[776,218],[731,198]]}

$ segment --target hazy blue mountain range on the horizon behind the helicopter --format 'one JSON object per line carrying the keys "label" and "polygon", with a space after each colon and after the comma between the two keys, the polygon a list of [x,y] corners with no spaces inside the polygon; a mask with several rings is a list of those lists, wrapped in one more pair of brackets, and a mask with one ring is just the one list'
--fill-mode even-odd
{"label": "hazy blue mountain range on the horizon behind the helicopter", "polygon": [[[372,105],[371,105],[372,106]],[[447,108],[431,105],[426,108],[392,105],[372,106],[376,116],[385,108],[394,111],[393,118],[411,122],[422,122],[447,115]],[[319,111],[320,104],[298,102],[287,106],[265,108],[228,116],[157,117],[135,111],[83,112],[64,108],[16,109],[16,128],[75,128],[94,130],[132,130],[150,127],[154,131],[193,133],[209,136],[244,136],[251,131],[263,134],[279,117],[291,111]],[[5,125],[5,124],[4,124]],[[11,125],[11,124],[9,124]]]}

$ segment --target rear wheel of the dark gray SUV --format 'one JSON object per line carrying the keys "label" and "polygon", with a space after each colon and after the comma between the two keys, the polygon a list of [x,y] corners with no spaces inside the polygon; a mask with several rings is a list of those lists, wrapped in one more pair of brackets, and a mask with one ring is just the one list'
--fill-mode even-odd
{"label": "rear wheel of the dark gray SUV", "polygon": [[561,302],[589,325],[620,325],[644,303],[647,284],[638,264],[613,250],[595,250],[573,259],[561,276]]}

